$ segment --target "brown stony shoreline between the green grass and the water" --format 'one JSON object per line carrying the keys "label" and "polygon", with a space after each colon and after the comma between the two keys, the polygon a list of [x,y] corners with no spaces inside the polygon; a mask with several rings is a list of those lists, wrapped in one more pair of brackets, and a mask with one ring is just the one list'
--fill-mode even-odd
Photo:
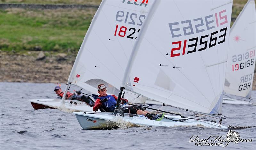
{"label": "brown stony shoreline between the green grass and the water", "polygon": [[[51,55],[43,51],[0,54],[0,82],[66,83],[76,59],[76,54]],[[255,72],[253,90],[256,90]]]}

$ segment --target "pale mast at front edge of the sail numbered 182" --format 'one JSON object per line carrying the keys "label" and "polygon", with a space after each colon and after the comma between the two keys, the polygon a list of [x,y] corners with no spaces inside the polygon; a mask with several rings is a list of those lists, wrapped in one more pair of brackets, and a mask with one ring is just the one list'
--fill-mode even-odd
{"label": "pale mast at front edge of the sail numbered 182", "polygon": [[69,86],[71,85],[72,77],[74,76],[73,73],[74,73],[74,71],[76,70],[76,67],[77,67],[77,64],[78,64],[78,60],[79,60],[80,57],[81,57],[80,53],[82,53],[82,50],[84,49],[84,46],[85,46],[84,43],[87,41],[87,36],[90,34],[91,28],[92,28],[92,26],[94,25],[95,20],[97,19],[98,12],[100,12],[100,9],[101,9],[101,7],[104,5],[104,3],[105,3],[105,0],[102,0],[102,2],[100,3],[99,9],[96,11],[96,13],[95,13],[95,15],[94,15],[94,17],[93,17],[93,19],[92,19],[92,22],[91,22],[91,24],[90,24],[90,26],[89,26],[89,28],[88,28],[88,30],[87,30],[87,33],[86,33],[86,35],[85,35],[85,37],[84,37],[84,40],[83,40],[83,42],[82,42],[82,44],[81,44],[81,47],[80,47],[80,49],[79,49],[79,51],[78,51],[78,53],[77,53],[76,60],[75,60],[75,62],[74,62],[74,65],[73,65],[73,67],[72,67],[72,69],[71,69],[71,72],[70,72],[70,74],[69,74],[69,77],[68,77],[68,81],[67,81],[67,84],[66,84],[66,88],[65,88],[65,91],[64,91],[64,94],[63,94],[61,103],[64,103],[64,100],[65,100],[65,98],[66,98],[66,94],[67,94],[68,88],[69,88]]}

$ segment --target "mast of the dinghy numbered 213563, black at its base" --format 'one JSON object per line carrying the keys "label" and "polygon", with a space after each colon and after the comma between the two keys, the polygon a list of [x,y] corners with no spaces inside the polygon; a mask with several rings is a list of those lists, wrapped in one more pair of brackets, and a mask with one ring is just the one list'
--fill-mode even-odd
{"label": "mast of the dinghy numbered 213563, black at its base", "polygon": [[116,112],[117,112],[117,110],[119,108],[119,104],[120,104],[120,101],[121,101],[121,96],[122,96],[123,90],[129,84],[129,73],[131,71],[132,64],[134,62],[134,59],[135,59],[135,56],[136,56],[136,53],[137,53],[137,45],[141,43],[141,41],[142,41],[141,37],[143,37],[143,35],[147,31],[147,26],[146,25],[148,24],[149,20],[151,20],[152,15],[154,14],[158,4],[159,4],[159,0],[155,0],[152,3],[152,6],[151,6],[151,8],[150,8],[150,10],[148,12],[148,17],[146,18],[145,22],[143,23],[143,25],[141,27],[141,32],[138,35],[138,39],[137,39],[137,41],[135,42],[135,44],[134,44],[134,46],[132,48],[132,52],[131,52],[131,55],[129,57],[129,60],[128,60],[128,63],[127,63],[127,67],[125,68],[124,77],[123,77],[123,80],[122,80],[122,83],[121,83],[121,87],[120,87],[120,90],[119,90],[119,93],[118,93],[118,98],[116,100],[116,107],[115,107],[114,114],[116,114]]}

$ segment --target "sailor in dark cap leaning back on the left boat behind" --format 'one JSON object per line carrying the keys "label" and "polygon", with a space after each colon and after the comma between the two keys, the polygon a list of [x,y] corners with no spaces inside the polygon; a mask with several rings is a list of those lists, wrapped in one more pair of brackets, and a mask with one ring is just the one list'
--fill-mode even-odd
{"label": "sailor in dark cap leaning back on the left boat behind", "polygon": [[[57,99],[62,99],[64,92],[61,90],[61,88],[59,86],[56,86],[54,88],[54,91],[58,96]],[[90,97],[81,95],[81,91],[77,91],[76,93],[77,93],[77,95],[67,92],[66,99],[79,100],[79,101],[87,103],[91,107],[94,106],[94,101],[92,99],[90,99]]]}

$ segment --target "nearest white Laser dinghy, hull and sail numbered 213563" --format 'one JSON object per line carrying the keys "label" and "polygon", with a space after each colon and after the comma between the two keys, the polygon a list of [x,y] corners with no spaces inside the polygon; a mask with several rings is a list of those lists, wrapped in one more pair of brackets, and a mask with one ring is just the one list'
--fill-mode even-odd
{"label": "nearest white Laser dinghy, hull and sail numbered 213563", "polygon": [[[81,127],[111,128],[116,122],[126,121],[145,126],[227,128],[220,118],[225,118],[221,109],[232,1],[198,1],[200,6],[195,1],[143,2],[152,6],[125,69],[115,112],[73,112]],[[124,89],[212,116],[220,119],[220,124],[185,116],[165,115],[161,121],[154,121],[124,114],[118,111]]]}

